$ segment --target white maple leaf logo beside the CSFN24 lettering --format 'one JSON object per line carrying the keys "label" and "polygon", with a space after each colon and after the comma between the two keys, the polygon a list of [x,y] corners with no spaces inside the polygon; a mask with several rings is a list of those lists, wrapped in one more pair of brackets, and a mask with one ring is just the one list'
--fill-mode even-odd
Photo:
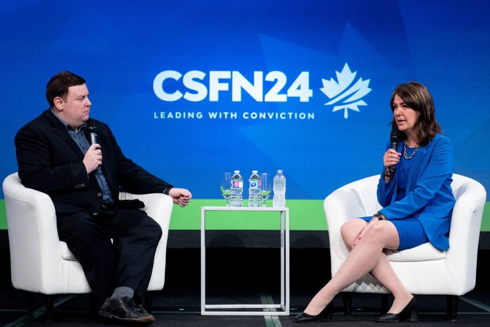
{"label": "white maple leaf logo beside the CSFN24 lettering", "polygon": [[323,87],[320,90],[331,99],[325,104],[326,106],[349,97],[332,109],[332,112],[344,109],[344,118],[347,119],[349,116],[348,109],[359,112],[358,106],[367,106],[360,99],[371,92],[371,88],[367,87],[369,86],[370,80],[363,81],[360,77],[357,82],[349,87],[354,82],[357,72],[352,73],[347,62],[344,68],[342,68],[342,72],[335,72],[335,74],[337,76],[337,82],[333,78],[330,78],[330,81],[322,78]]}

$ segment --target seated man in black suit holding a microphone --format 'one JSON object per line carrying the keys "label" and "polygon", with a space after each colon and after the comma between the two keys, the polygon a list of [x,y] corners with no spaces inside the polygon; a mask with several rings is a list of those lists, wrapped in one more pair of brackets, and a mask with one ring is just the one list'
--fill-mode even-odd
{"label": "seated man in black suit holding a microphone", "polygon": [[[120,201],[119,188],[134,194],[164,193],[180,206],[192,195],[126,158],[109,127],[89,119],[88,95],[80,76],[63,72],[51,78],[46,85],[50,108],[15,136],[19,177],[24,186],[53,200],[60,240],[82,265],[102,305],[99,314],[151,323],[155,317],[143,309],[141,297],[150,283],[162,230],[139,211],[141,201]],[[87,126],[96,128],[96,144],[88,142]]]}

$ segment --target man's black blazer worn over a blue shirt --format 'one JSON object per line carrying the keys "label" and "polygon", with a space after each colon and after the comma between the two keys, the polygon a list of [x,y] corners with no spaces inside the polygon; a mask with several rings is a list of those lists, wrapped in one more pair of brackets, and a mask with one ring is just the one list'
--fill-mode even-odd
{"label": "man's black blazer worn over a blue shirt", "polygon": [[[106,124],[94,119],[88,122],[97,128],[101,167],[116,204],[120,186],[134,194],[163,193],[173,187],[126,158]],[[95,172],[87,176],[84,154],[51,109],[17,132],[15,147],[22,184],[48,194],[57,213],[101,211],[102,191]]]}

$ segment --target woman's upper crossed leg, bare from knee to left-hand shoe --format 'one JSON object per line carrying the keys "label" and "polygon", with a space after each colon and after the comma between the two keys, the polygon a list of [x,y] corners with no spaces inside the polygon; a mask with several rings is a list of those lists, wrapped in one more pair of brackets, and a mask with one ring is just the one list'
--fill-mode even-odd
{"label": "woman's upper crossed leg, bare from knee to left-hand shoe", "polygon": [[[369,273],[378,263],[383,248],[397,249],[398,232],[392,223],[383,220],[367,228],[359,243],[351,250],[346,261],[310,301],[305,313],[317,315],[342,289]],[[389,264],[389,263],[388,263]]]}

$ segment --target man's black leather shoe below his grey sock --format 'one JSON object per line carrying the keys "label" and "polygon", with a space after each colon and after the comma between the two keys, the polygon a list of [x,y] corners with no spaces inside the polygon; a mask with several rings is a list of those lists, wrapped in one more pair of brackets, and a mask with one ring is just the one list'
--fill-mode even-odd
{"label": "man's black leather shoe below his grey sock", "polygon": [[118,323],[149,324],[155,317],[138,307],[132,297],[125,296],[118,299],[106,298],[99,315]]}

